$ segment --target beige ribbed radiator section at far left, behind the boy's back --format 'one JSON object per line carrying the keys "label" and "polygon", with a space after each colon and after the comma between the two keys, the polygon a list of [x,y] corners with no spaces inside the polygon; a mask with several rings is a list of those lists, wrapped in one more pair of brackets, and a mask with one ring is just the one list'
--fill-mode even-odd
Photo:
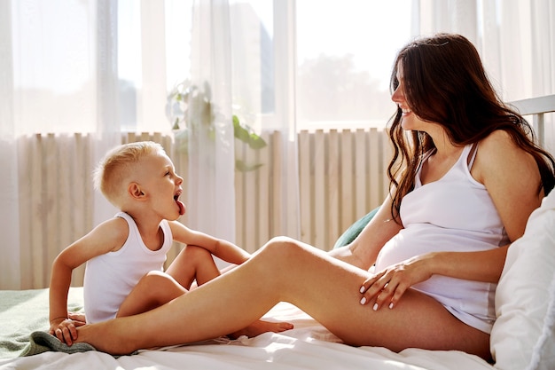
{"label": "beige ribbed radiator section at far left, behind the boy's back", "polygon": [[[61,148],[65,148],[62,152]],[[21,288],[48,287],[59,251],[92,227],[90,138],[35,135],[18,141]],[[74,272],[82,283],[83,267]]]}

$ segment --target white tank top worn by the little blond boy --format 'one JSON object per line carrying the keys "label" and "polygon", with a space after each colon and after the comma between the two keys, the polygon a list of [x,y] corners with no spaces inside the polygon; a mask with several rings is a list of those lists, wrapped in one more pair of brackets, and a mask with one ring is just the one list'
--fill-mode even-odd
{"label": "white tank top worn by the little blond boy", "polygon": [[137,224],[127,213],[119,212],[129,224],[129,236],[119,250],[96,256],[87,262],[83,295],[88,323],[113,319],[121,303],[147,272],[162,271],[172,246],[172,233],[167,220],[160,228],[164,242],[158,250],[145,246]]}

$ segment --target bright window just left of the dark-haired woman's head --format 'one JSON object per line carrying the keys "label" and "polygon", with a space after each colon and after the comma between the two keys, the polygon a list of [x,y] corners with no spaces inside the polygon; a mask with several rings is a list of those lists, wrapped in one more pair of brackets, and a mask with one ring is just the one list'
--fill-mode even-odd
{"label": "bright window just left of the dark-haired woman's head", "polygon": [[410,39],[410,0],[296,2],[299,129],[383,127],[389,77]]}

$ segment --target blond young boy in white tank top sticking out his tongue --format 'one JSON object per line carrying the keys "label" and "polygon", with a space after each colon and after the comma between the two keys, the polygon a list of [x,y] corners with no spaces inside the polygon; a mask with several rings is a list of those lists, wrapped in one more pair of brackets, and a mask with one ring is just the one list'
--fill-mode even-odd
{"label": "blond young boy in white tank top sticking out his tongue", "polygon": [[[71,345],[85,324],[67,312],[74,268],[87,263],[83,284],[86,322],[151,310],[220,275],[212,255],[242,264],[250,255],[226,240],[196,232],[176,219],[184,215],[183,189],[172,161],[159,144],[130,143],[106,154],[95,172],[95,187],[118,209],[113,218],[65,248],[52,264],[50,333]],[[162,272],[172,241],[186,247]],[[257,321],[231,336],[254,336],[292,328]]]}

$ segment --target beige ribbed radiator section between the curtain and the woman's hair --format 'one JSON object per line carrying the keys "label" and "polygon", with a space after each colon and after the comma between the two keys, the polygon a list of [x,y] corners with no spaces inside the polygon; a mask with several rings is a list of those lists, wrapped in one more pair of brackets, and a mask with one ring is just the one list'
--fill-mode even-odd
{"label": "beige ribbed radiator section between the curtain and the woman's hair", "polygon": [[328,250],[387,193],[387,135],[382,130],[301,131],[301,240]]}

